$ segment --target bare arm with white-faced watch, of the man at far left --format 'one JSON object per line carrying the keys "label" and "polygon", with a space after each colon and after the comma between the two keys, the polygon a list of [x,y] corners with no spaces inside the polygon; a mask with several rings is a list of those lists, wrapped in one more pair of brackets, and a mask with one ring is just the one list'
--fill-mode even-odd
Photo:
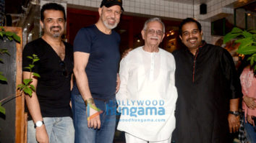
{"label": "bare arm with white-faced watch, of the man at far left", "polygon": [[[23,74],[23,79],[28,79],[28,78],[30,78],[30,74],[33,74],[33,73],[24,71],[22,74]],[[36,89],[36,86],[38,85],[38,80],[34,77],[32,77],[32,79],[33,79],[33,82],[30,83],[30,84],[35,86],[35,89]],[[43,117],[42,117],[42,114],[40,112],[40,105],[39,105],[39,102],[38,102],[38,96],[36,95],[36,91],[34,91],[32,93],[31,97],[26,95],[25,100],[26,100],[26,103],[27,103],[27,109],[30,112],[30,115],[33,119],[34,124],[35,124],[36,121],[43,121]],[[44,124],[40,127],[37,126],[35,128],[35,138],[40,143],[41,142],[42,143],[49,142],[48,134],[46,132],[46,126]]]}

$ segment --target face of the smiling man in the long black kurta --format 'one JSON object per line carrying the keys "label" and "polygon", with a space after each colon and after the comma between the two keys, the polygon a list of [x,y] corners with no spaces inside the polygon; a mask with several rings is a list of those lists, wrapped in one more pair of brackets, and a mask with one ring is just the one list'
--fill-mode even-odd
{"label": "face of the smiling man in the long black kurta", "polygon": [[200,32],[195,22],[189,22],[182,26],[182,35],[179,37],[189,50],[197,49],[202,42],[202,31]]}

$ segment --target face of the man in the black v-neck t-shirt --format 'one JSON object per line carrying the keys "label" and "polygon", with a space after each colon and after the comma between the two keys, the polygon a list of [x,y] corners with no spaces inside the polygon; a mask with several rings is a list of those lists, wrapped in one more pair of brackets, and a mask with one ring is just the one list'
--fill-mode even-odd
{"label": "face of the man in the black v-neck t-shirt", "polygon": [[43,12],[43,15],[43,22],[40,21],[43,34],[48,34],[51,37],[61,37],[65,28],[63,12],[58,10],[46,10]]}

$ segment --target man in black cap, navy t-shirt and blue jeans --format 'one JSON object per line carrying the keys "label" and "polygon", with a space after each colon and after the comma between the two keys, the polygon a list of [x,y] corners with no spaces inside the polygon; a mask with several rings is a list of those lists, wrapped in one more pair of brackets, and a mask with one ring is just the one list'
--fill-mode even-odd
{"label": "man in black cap, navy t-shirt and blue jeans", "polygon": [[113,142],[120,37],[112,29],[119,23],[121,4],[121,0],[103,0],[98,22],[80,29],[74,39],[75,142]]}

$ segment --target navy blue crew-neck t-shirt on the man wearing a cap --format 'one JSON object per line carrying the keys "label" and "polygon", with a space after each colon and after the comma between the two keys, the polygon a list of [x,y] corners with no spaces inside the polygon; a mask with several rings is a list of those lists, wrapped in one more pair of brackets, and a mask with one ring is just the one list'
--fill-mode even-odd
{"label": "navy blue crew-neck t-shirt on the man wearing a cap", "polygon": [[[88,76],[93,98],[108,100],[115,97],[116,73],[119,67],[120,36],[112,30],[104,34],[95,24],[77,32],[74,39],[74,52],[90,53],[85,72]],[[73,90],[78,93],[76,84]]]}

